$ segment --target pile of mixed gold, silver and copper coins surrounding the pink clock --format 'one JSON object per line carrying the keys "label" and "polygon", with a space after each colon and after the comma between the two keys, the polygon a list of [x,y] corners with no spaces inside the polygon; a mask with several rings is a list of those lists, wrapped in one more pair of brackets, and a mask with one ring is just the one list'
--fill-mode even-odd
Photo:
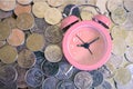
{"label": "pile of mixed gold, silver and copper coins surrounding the pink clock", "polygon": [[[112,55],[93,71],[63,56],[61,20],[75,4],[98,6],[112,20]],[[91,20],[92,7],[71,14]],[[0,89],[132,89],[133,0],[0,0]]]}

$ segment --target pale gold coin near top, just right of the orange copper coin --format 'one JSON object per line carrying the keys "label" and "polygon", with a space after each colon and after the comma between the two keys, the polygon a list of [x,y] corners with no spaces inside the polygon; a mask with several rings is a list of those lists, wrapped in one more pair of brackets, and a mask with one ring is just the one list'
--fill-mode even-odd
{"label": "pale gold coin near top, just right of the orange copper coin", "polygon": [[32,6],[32,12],[37,18],[44,18],[44,13],[45,11],[49,9],[50,7],[48,6],[47,2],[35,2]]}

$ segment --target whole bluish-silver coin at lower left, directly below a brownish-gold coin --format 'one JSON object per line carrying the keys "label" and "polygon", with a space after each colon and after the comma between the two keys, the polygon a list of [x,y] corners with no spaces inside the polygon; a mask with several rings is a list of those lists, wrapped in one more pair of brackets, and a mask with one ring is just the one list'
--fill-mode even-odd
{"label": "whole bluish-silver coin at lower left, directly below a brownish-gold coin", "polygon": [[31,68],[25,73],[25,82],[28,86],[37,88],[42,85],[43,72],[39,68]]}

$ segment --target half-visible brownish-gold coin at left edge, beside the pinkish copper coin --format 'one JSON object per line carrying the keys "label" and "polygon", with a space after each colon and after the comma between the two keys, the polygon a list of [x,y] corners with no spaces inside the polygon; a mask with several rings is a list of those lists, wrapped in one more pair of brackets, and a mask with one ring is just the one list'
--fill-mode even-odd
{"label": "half-visible brownish-gold coin at left edge, beside the pinkish copper coin", "polygon": [[10,27],[3,22],[0,22],[0,41],[6,40],[9,37],[10,32]]}

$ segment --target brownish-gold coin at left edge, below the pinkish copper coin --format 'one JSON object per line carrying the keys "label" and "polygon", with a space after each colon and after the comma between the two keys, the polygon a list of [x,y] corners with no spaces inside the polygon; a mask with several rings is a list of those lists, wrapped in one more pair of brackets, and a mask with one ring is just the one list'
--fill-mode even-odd
{"label": "brownish-gold coin at left edge, below the pinkish copper coin", "polygon": [[0,48],[0,59],[3,63],[12,63],[17,60],[17,49],[11,46],[3,46]]}

